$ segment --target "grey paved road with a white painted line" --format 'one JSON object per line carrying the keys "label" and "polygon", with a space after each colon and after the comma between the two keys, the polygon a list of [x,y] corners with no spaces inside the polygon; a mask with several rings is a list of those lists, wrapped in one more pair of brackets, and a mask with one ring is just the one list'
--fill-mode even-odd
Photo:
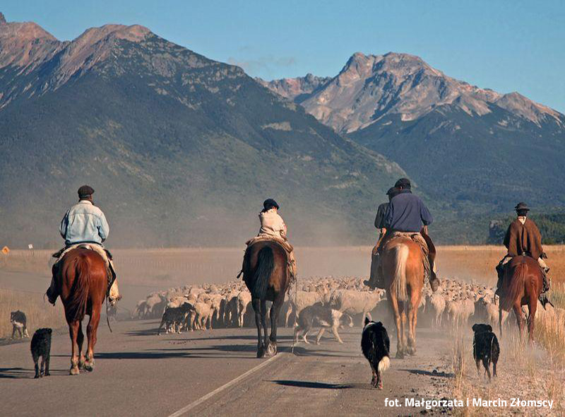
{"label": "grey paved road with a white painted line", "polygon": [[[451,344],[419,331],[417,356],[392,359],[383,391],[371,389],[360,353],[360,329],[343,329],[345,343],[303,343],[291,354],[290,329],[280,331],[280,357],[220,393],[190,406],[256,368],[254,329],[218,329],[157,336],[155,321],[101,326],[94,372],[69,376],[67,334],[54,336],[52,376],[34,380],[28,343],[0,346],[0,404],[6,416],[338,416],[408,415],[420,409],[384,407],[385,398],[438,398],[446,384]],[[396,343],[393,343],[395,351]],[[433,372],[437,369],[438,372]],[[441,397],[441,396],[440,396]]]}

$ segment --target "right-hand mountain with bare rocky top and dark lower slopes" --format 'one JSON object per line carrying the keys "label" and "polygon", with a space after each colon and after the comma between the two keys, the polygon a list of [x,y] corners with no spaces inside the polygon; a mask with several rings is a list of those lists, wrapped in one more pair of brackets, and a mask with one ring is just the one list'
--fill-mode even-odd
{"label": "right-hand mountain with bare rocky top and dark lower slopes", "polygon": [[357,52],[335,77],[263,85],[395,160],[444,214],[484,223],[522,200],[537,211],[565,203],[565,115],[519,93],[471,86],[392,52]]}

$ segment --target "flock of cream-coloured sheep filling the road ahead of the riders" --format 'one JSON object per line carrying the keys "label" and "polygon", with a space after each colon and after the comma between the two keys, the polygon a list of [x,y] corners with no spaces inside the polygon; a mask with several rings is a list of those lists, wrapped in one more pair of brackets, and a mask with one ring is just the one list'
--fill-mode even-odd
{"label": "flock of cream-coloured sheep filling the road ahead of the riders", "polygon": [[[342,312],[343,317],[349,317],[350,321],[358,320],[361,326],[366,315],[392,325],[386,292],[371,291],[362,281],[363,278],[355,277],[301,278],[297,294],[295,286],[290,288],[280,312],[279,324],[292,325],[294,315],[305,307],[321,303]],[[428,322],[435,328],[472,323],[488,323],[494,328],[498,324],[499,305],[494,288],[444,278],[436,293],[432,293],[429,285],[424,286],[422,291],[419,323]],[[189,308],[182,310],[183,305]],[[543,310],[542,307],[540,309]],[[178,311],[180,318],[179,315],[165,314],[166,311]],[[503,322],[508,317],[509,313],[503,312]],[[255,326],[251,294],[243,281],[184,286],[151,293],[137,303],[133,318],[163,318],[162,325],[165,324],[167,332]]]}

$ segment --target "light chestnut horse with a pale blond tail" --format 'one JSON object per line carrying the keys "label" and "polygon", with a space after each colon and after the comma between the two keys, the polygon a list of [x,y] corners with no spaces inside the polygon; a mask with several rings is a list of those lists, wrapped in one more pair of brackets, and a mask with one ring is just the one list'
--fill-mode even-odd
{"label": "light chestnut horse with a pale blond tail", "polygon": [[[383,246],[382,256],[386,297],[396,324],[396,358],[404,358],[405,353],[416,353],[418,305],[424,286],[422,249],[409,237],[391,237]],[[405,338],[407,314],[408,345]]]}

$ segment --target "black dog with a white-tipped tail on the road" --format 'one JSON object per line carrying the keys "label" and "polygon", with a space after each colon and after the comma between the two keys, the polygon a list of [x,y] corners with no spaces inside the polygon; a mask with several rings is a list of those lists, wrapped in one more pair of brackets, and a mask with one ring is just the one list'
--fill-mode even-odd
{"label": "black dog with a white-tipped tail on the road", "polygon": [[363,355],[369,360],[373,379],[371,384],[375,388],[383,389],[383,371],[391,365],[388,352],[391,350],[391,341],[381,322],[371,322],[365,317],[365,327],[361,337]]}

